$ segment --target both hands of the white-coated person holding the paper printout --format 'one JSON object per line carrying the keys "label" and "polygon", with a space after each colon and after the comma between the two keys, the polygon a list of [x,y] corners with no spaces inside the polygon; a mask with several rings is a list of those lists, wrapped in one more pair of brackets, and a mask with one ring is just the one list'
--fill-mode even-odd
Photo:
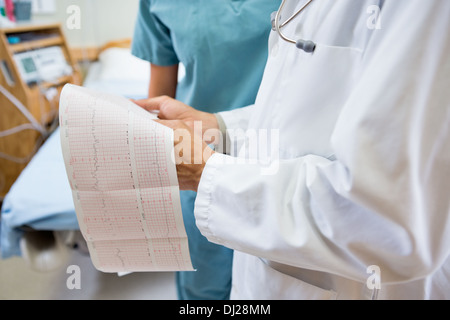
{"label": "both hands of the white-coated person holding the paper printout", "polygon": [[[197,191],[206,162],[214,151],[211,131],[218,132],[216,117],[168,96],[133,100],[149,112],[158,112],[158,123],[174,130],[175,161],[181,190]],[[205,134],[209,131],[209,134]]]}

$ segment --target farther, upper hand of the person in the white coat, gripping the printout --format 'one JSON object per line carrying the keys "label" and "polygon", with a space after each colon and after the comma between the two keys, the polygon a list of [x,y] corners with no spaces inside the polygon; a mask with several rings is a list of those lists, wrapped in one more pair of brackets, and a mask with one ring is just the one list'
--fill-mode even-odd
{"label": "farther, upper hand of the person in the white coat, gripping the printout", "polygon": [[149,112],[157,113],[159,119],[182,120],[191,129],[194,129],[196,121],[201,121],[202,133],[210,129],[219,129],[216,117],[212,113],[196,110],[168,96],[132,101]]}

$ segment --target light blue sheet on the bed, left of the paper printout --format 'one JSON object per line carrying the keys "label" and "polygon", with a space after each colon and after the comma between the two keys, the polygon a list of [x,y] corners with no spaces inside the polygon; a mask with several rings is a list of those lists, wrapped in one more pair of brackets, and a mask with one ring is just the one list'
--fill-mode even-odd
{"label": "light blue sheet on the bed, left of the paper printout", "polygon": [[52,133],[6,195],[0,221],[2,258],[20,253],[22,228],[78,230],[61,151],[59,129]]}

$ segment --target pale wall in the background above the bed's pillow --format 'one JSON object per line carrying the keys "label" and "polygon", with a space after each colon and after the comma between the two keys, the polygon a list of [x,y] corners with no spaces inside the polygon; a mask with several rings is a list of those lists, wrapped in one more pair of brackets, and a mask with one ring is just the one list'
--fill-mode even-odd
{"label": "pale wall in the background above the bed's pillow", "polygon": [[[55,13],[34,14],[32,22],[61,23],[71,47],[99,47],[133,36],[139,0],[55,0],[55,5]],[[79,29],[67,28],[71,5],[80,8]]]}

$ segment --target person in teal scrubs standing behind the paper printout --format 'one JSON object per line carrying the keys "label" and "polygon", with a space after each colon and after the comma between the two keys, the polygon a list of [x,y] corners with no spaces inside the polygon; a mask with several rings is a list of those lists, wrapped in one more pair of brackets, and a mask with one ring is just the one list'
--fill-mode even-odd
{"label": "person in teal scrubs standing behind the paper printout", "polygon": [[[168,95],[210,113],[251,105],[267,59],[270,15],[280,0],[140,0],[132,53],[150,62],[149,98]],[[178,66],[185,76],[178,79]],[[182,300],[229,299],[232,250],[195,225],[194,192],[181,192],[196,272],[178,272]]]}

